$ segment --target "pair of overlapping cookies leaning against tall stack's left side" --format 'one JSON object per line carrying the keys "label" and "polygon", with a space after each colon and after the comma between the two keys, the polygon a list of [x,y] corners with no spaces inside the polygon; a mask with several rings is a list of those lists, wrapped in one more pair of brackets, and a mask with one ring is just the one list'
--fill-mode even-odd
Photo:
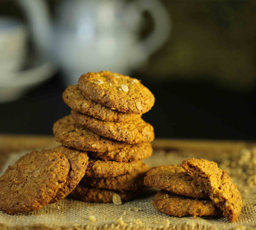
{"label": "pair of overlapping cookies leaning against tall stack's left side", "polygon": [[22,156],[0,177],[0,210],[31,212],[60,201],[77,186],[87,165],[87,153],[63,146]]}

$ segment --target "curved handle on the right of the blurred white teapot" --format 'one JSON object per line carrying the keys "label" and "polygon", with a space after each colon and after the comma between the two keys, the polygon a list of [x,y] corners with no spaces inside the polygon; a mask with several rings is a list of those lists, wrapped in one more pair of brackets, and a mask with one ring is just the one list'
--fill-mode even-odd
{"label": "curved handle on the right of the blurred white teapot", "polygon": [[152,33],[138,44],[139,48],[144,51],[145,57],[148,57],[168,39],[171,33],[171,18],[163,4],[158,0],[138,1],[136,3],[141,12],[150,13],[155,24]]}

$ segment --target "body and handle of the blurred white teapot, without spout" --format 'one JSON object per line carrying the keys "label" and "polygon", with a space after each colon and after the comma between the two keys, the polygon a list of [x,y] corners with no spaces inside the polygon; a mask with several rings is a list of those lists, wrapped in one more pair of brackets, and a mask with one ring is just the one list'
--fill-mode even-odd
{"label": "body and handle of the blurred white teapot, without spout", "polygon": [[[145,11],[155,26],[139,41]],[[170,28],[168,13],[157,0],[64,1],[53,29],[53,49],[68,84],[89,71],[128,74],[163,45]]]}

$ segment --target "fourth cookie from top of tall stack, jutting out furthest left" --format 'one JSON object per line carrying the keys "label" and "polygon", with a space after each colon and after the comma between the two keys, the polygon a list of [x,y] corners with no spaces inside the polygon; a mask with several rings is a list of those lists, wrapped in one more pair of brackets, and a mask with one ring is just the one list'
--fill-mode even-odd
{"label": "fourth cookie from top of tall stack, jutting out furthest left", "polygon": [[125,142],[101,137],[85,126],[76,124],[71,115],[54,123],[53,134],[61,144],[83,151],[111,151],[128,146]]}

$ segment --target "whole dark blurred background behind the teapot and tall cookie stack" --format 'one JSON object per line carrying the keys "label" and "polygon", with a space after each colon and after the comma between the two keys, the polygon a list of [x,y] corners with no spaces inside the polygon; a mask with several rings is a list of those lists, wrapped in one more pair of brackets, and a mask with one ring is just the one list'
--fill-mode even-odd
{"label": "whole dark blurred background behind the teapot and tall cookie stack", "polygon": [[[130,74],[155,94],[154,107],[143,116],[155,136],[255,140],[255,1],[163,4],[173,20],[171,37]],[[55,1],[48,5],[54,15]],[[151,24],[149,18],[142,37]],[[18,101],[0,104],[0,132],[52,134],[53,123],[70,112],[61,98],[64,88],[58,71]]]}

